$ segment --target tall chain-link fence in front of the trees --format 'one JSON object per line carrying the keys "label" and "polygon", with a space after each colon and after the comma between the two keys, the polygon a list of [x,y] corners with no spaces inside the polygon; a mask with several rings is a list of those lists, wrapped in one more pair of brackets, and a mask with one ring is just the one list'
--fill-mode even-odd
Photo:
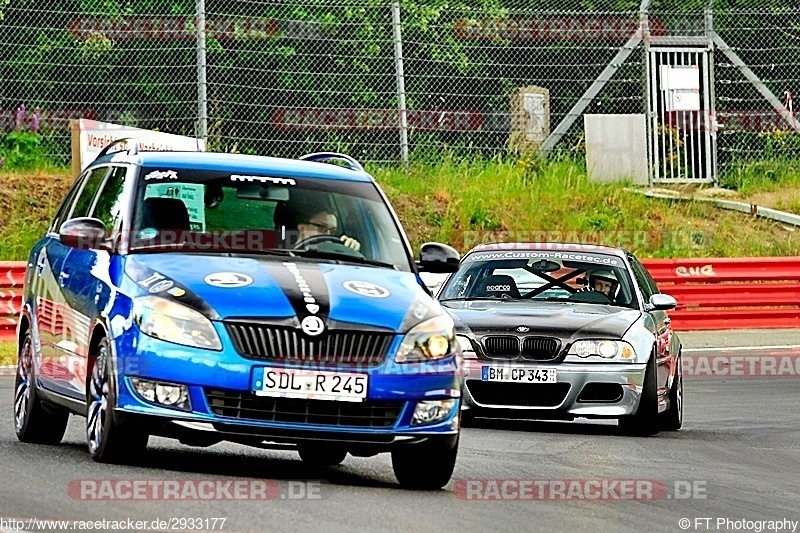
{"label": "tall chain-link fence in front of the trees", "polygon": [[0,3],[0,135],[35,129],[64,160],[70,118],[290,157],[580,151],[581,115],[647,113],[648,47],[686,38],[715,50],[697,124],[720,164],[791,157],[793,125],[764,93],[788,109],[800,81],[800,10],[784,1],[13,0]]}

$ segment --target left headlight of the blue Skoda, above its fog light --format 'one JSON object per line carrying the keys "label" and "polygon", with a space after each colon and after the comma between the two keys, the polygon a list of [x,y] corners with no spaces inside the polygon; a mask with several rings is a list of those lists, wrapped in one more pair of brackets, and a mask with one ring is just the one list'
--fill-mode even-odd
{"label": "left headlight of the blue Skoda, above its fog light", "polygon": [[163,341],[221,350],[211,321],[185,305],[156,296],[144,296],[133,300],[133,317],[142,333]]}

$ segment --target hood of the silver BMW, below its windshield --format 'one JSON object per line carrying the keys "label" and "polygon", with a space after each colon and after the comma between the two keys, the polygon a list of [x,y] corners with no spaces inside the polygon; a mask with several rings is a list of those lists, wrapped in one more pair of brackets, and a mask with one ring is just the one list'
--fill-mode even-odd
{"label": "hood of the silver BMW, below its windshield", "polygon": [[[640,311],[633,309],[583,303],[458,301],[444,305],[456,317],[460,330],[478,336],[508,333],[546,335],[563,340],[621,339],[641,316]],[[519,327],[523,331],[519,331]]]}

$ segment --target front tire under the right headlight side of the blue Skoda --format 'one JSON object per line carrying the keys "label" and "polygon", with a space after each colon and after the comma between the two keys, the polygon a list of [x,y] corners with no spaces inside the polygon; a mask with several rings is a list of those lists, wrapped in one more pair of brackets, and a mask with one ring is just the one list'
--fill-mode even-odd
{"label": "front tire under the right headlight side of the blue Skoda", "polygon": [[458,441],[452,448],[399,448],[392,452],[392,469],[404,488],[437,490],[450,481],[457,454]]}

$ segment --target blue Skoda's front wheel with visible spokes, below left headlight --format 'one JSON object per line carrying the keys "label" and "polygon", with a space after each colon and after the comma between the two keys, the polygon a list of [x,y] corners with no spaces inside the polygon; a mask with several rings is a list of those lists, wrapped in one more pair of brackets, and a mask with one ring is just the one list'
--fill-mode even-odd
{"label": "blue Skoda's front wheel with visible spokes, below left headlight", "polygon": [[117,384],[111,370],[111,350],[103,339],[97,347],[86,383],[86,442],[98,463],[136,462],[147,448],[148,434],[133,425],[118,423]]}

